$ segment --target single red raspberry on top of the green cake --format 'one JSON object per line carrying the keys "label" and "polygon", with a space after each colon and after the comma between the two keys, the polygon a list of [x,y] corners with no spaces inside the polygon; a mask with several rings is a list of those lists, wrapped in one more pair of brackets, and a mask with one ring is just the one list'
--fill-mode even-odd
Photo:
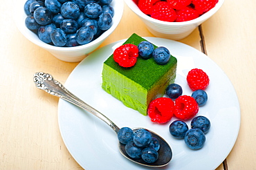
{"label": "single red raspberry on top of the green cake", "polygon": [[134,44],[122,45],[113,52],[113,60],[122,67],[134,66],[137,62],[138,46]]}

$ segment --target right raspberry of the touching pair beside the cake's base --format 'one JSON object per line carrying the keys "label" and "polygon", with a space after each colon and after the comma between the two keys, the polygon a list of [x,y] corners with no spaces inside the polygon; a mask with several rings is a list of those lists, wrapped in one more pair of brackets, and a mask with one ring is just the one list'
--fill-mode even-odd
{"label": "right raspberry of the touching pair beside the cake's base", "polygon": [[199,106],[193,97],[181,95],[175,100],[174,115],[181,120],[189,120],[199,111]]}

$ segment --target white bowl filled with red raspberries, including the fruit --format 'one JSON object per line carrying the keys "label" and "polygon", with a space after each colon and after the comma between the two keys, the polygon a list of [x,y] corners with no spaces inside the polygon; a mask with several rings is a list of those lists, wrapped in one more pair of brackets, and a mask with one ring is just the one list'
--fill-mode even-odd
{"label": "white bowl filled with red raspberries, including the fruit", "polygon": [[179,40],[221,8],[224,0],[125,0],[156,37]]}

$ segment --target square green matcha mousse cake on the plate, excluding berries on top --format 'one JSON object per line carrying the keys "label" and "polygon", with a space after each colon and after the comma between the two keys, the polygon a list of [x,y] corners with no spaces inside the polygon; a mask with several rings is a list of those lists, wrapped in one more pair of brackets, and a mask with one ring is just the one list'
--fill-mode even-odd
{"label": "square green matcha mousse cake on the plate, excluding berries on top", "polygon": [[[141,41],[147,40],[133,34],[124,44],[138,46]],[[102,88],[125,106],[147,115],[149,102],[162,97],[165,88],[174,82],[176,65],[177,60],[172,55],[165,65],[156,64],[152,57],[138,56],[135,66],[124,68],[113,60],[112,54],[103,64]]]}

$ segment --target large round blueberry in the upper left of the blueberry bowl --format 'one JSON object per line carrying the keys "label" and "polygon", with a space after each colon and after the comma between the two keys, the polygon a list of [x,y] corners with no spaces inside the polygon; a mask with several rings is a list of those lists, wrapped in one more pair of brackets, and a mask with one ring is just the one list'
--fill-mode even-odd
{"label": "large round blueberry in the upper left of the blueberry bowl", "polygon": [[53,15],[51,13],[51,10],[48,10],[48,8],[45,7],[39,7],[34,12],[35,21],[39,23],[40,25],[47,25],[48,23],[51,23],[53,19]]}

